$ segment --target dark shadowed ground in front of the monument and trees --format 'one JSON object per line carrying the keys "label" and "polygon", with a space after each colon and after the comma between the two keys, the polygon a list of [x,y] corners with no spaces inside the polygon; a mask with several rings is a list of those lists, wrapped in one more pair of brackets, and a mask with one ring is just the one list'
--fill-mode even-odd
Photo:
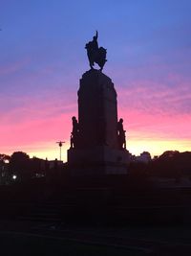
{"label": "dark shadowed ground in front of the monument and trees", "polygon": [[191,255],[190,188],[55,181],[1,187],[0,255]]}

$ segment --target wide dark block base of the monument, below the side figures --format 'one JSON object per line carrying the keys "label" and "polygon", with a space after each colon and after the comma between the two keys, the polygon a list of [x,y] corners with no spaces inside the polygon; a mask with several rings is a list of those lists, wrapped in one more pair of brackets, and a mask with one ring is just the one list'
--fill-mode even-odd
{"label": "wide dark block base of the monument, below the side figures", "polygon": [[71,175],[127,175],[129,152],[107,146],[68,150]]}

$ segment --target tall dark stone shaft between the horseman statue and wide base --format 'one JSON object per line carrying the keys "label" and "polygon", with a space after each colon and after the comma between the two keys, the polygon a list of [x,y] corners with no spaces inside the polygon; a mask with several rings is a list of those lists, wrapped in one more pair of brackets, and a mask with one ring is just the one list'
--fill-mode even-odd
{"label": "tall dark stone shaft between the horseman statue and wide base", "polygon": [[80,148],[117,145],[117,92],[114,83],[99,70],[86,72],[78,90]]}

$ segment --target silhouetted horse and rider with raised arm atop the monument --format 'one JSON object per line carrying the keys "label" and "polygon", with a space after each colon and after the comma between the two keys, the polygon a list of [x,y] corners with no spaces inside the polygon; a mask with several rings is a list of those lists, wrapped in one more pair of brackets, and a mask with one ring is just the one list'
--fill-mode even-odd
{"label": "silhouetted horse and rider with raised arm atop the monument", "polygon": [[87,49],[87,55],[90,62],[90,67],[94,69],[93,66],[95,65],[95,62],[96,62],[99,65],[100,70],[102,71],[105,62],[107,61],[106,59],[107,51],[103,47],[98,48],[97,37],[98,37],[98,33],[96,31],[96,35],[93,37],[93,40],[88,42],[85,48]]}

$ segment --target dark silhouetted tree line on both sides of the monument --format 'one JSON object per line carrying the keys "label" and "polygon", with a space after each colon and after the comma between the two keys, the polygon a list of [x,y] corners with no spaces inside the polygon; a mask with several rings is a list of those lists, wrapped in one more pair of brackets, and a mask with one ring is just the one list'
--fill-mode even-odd
{"label": "dark silhouetted tree line on both sides of the monument", "polygon": [[[15,151],[10,155],[0,153],[0,178],[13,181],[25,181],[34,177],[47,175],[50,170],[57,168],[57,161],[43,160],[32,157],[23,151]],[[64,166],[62,165],[61,168]],[[66,168],[66,167],[65,167]],[[135,178],[146,178],[151,176],[163,178],[176,178],[182,176],[191,178],[191,151],[164,151],[159,157],[151,161],[131,161],[127,166],[129,175]]]}

